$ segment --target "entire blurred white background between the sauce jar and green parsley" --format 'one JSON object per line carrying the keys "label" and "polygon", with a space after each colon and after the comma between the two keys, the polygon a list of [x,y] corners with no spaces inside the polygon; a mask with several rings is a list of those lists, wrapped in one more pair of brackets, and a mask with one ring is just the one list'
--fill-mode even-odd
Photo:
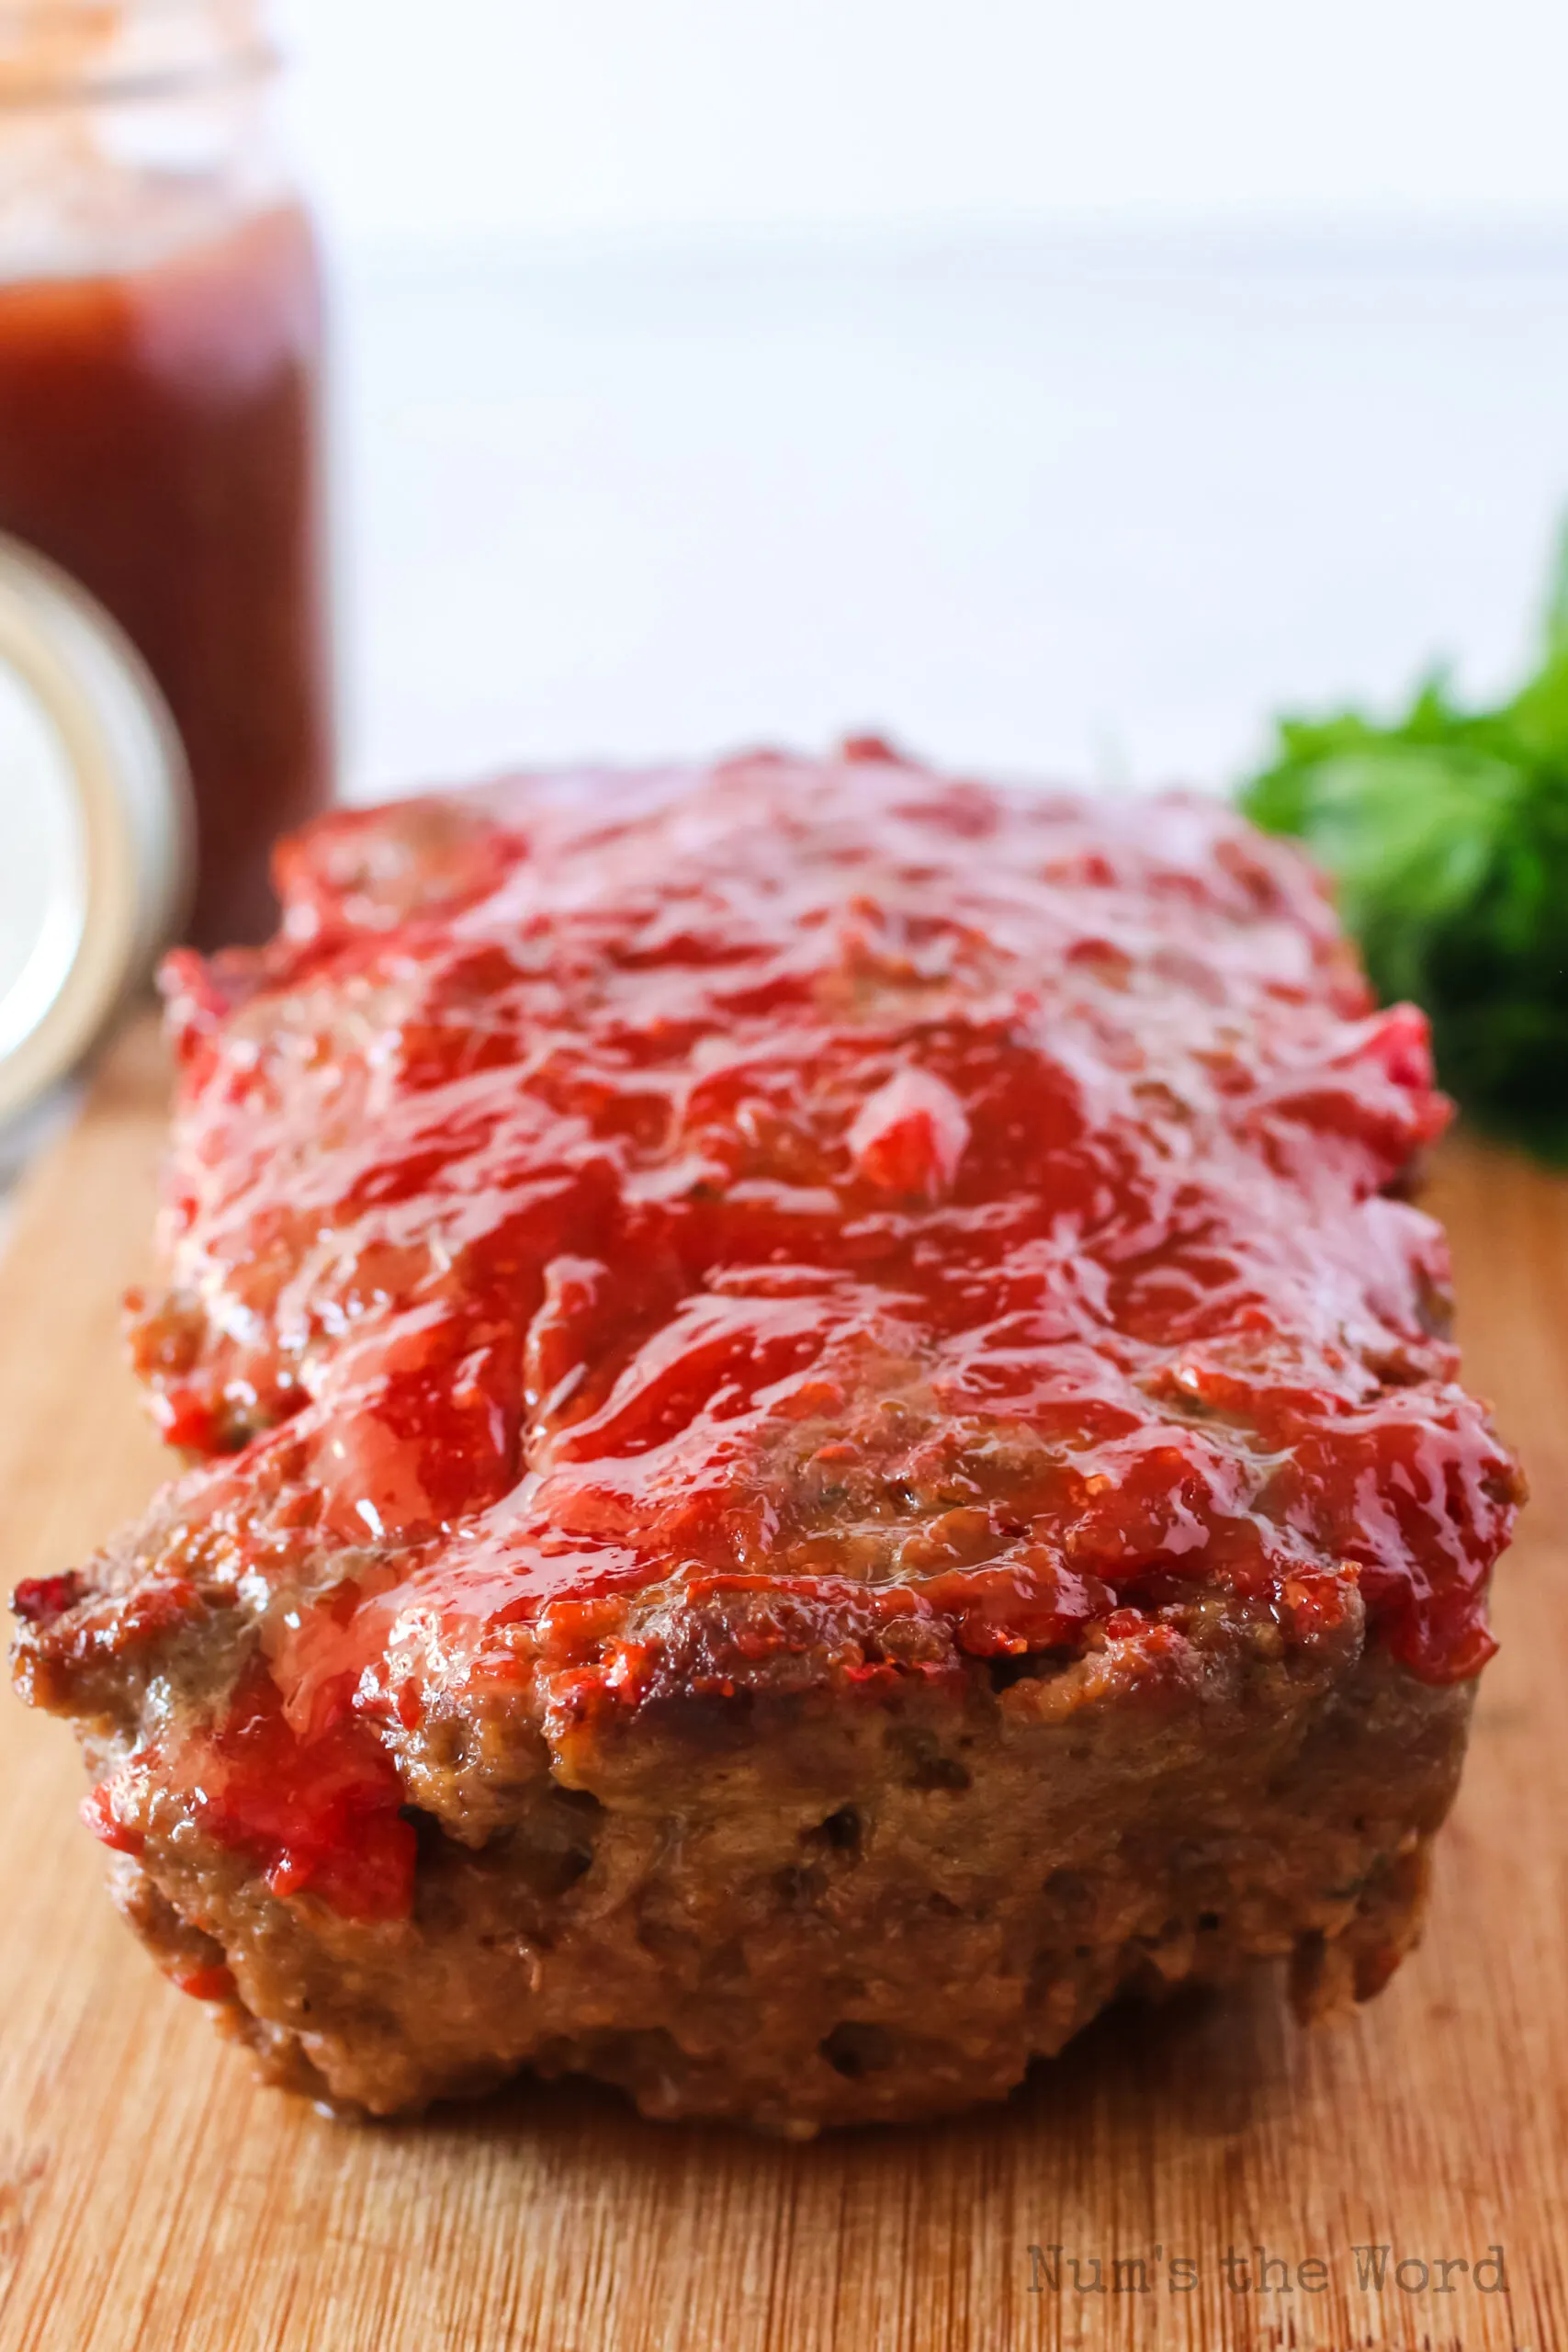
{"label": "entire blurred white background between the sauce jar and green parsley", "polygon": [[1568,9],[296,0],[353,790],[882,727],[1225,783],[1523,656]]}

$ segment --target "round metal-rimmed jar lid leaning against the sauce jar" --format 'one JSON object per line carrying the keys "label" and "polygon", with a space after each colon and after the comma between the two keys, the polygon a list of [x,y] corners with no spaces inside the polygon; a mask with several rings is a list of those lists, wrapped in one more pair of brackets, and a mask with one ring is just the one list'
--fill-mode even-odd
{"label": "round metal-rimmed jar lid leaning against the sauce jar", "polygon": [[174,720],[85,588],[0,536],[0,1120],[82,1058],[186,915]]}

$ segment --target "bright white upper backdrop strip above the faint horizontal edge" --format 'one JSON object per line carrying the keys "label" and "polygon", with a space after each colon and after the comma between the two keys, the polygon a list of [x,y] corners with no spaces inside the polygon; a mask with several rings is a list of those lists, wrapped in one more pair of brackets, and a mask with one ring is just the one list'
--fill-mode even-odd
{"label": "bright white upper backdrop strip above the faint horizontal edge", "polygon": [[292,0],[355,233],[1568,212],[1561,0]]}

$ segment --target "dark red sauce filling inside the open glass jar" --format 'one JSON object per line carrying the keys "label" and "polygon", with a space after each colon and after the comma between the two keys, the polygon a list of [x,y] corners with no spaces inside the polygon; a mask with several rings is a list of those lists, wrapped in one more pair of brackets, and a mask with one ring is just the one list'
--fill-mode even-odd
{"label": "dark red sauce filling inside the open glass jar", "polygon": [[270,929],[270,844],[329,795],[320,346],[296,205],[143,268],[0,285],[0,529],[113,612],[174,710],[197,946]]}

